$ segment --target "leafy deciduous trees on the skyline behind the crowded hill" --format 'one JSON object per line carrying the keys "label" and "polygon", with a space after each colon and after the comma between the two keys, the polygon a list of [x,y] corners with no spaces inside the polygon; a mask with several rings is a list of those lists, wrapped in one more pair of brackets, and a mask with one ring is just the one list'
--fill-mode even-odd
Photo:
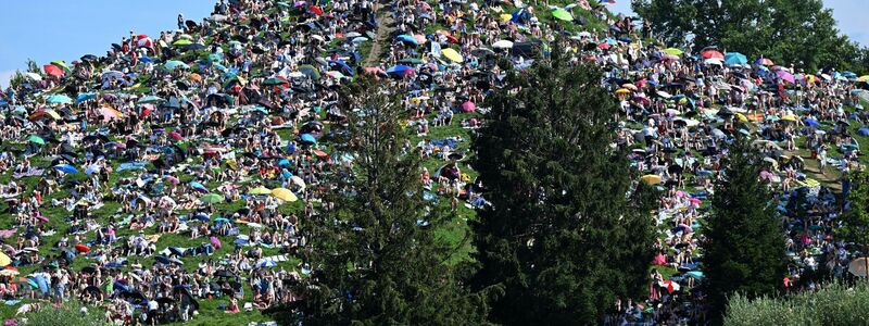
{"label": "leafy deciduous trees on the skyline behind the crowded hill", "polygon": [[821,0],[633,0],[632,4],[668,45],[693,35],[694,50],[715,45],[809,72],[865,70],[864,50],[839,32],[832,10],[824,9]]}

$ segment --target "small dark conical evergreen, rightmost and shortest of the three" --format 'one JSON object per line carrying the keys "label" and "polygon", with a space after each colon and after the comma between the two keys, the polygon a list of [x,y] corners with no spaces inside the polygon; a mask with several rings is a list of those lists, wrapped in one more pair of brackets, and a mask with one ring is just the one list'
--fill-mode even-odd
{"label": "small dark conical evergreen, rightmost and shortest of the three", "polygon": [[730,147],[706,225],[702,267],[716,315],[723,313],[728,296],[739,292],[753,299],[777,293],[786,272],[784,234],[758,179],[760,158],[746,141],[740,138]]}

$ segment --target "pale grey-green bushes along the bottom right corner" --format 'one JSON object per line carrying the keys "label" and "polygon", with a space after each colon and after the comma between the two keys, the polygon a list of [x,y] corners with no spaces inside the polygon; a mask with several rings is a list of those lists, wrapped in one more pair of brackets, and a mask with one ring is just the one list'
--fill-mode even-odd
{"label": "pale grey-green bushes along the bottom right corner", "polygon": [[816,292],[750,300],[734,296],[725,316],[727,326],[865,325],[869,321],[869,284],[853,288],[832,284]]}

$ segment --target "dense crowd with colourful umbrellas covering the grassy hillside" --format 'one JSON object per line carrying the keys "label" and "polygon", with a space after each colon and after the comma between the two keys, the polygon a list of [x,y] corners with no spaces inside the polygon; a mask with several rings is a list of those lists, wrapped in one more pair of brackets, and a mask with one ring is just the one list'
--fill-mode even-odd
{"label": "dense crowd with colourful umbrellas covering the grassy hillside", "polygon": [[[585,30],[587,16],[609,27]],[[783,286],[811,287],[801,277],[821,269],[845,277],[854,259],[832,237],[841,187],[821,186],[860,168],[853,133],[869,128],[851,124],[868,117],[851,112],[869,95],[853,73],[644,42],[650,26],[587,0],[221,0],[177,27],[130,30],[103,57],[46,64],[0,95],[0,196],[14,216],[0,231],[7,303],[77,298],[105,306],[109,322],[153,325],[193,318],[200,300],[223,300],[226,313],[297,300],[293,283],[312,272],[295,259],[311,240],[300,220],[319,214],[324,177],[353,164],[327,152],[329,126],[347,114],[341,85],[358,74],[391,83],[420,139],[405,148],[442,165],[420,171],[420,187],[478,209],[463,134],[486,123],[500,61],[527,68],[556,42],[567,60],[604,68],[622,109],[617,146],[637,183],[665,190],[650,296],[615,303],[606,323],[706,318],[695,235],[740,133],[766,155],[758,178],[788,228]],[[450,126],[465,131],[429,136]]]}

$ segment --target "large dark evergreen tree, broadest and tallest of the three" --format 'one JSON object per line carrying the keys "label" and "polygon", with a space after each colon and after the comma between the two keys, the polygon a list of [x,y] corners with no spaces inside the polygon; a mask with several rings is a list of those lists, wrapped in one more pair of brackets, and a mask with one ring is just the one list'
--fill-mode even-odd
{"label": "large dark evergreen tree, broadest and tallest of the three", "polygon": [[596,324],[618,298],[639,297],[652,259],[648,205],[628,199],[626,155],[609,147],[618,108],[596,67],[553,53],[508,75],[475,139],[492,206],[473,224],[473,285],[494,323]]}

